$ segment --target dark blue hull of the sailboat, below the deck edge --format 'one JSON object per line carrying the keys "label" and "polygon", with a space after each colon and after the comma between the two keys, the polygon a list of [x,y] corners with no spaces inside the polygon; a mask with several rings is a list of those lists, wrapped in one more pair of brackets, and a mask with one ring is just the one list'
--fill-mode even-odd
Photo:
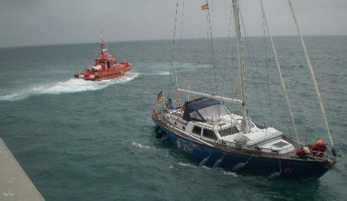
{"label": "dark blue hull of the sailboat, below the deck edge", "polygon": [[243,155],[233,152],[225,152],[219,148],[213,148],[202,143],[196,143],[171,132],[153,118],[155,125],[162,131],[162,136],[167,137],[174,146],[184,150],[196,159],[203,160],[208,157],[206,165],[213,166],[218,159],[222,159],[219,167],[232,170],[239,163],[248,161],[239,171],[246,171],[256,175],[269,177],[273,173],[279,173],[280,177],[289,180],[316,180],[324,175],[330,168],[328,161],[311,161],[302,159],[278,159],[271,157],[259,157]]}

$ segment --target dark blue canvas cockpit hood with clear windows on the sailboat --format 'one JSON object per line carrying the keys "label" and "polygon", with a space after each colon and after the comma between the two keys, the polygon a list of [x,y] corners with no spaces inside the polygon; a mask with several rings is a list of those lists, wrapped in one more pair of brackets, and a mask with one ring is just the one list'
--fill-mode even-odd
{"label": "dark blue canvas cockpit hood with clear windows on the sailboat", "polygon": [[219,100],[212,98],[198,98],[185,103],[183,119],[185,121],[206,122],[209,116],[221,116],[228,111],[221,105]]}

